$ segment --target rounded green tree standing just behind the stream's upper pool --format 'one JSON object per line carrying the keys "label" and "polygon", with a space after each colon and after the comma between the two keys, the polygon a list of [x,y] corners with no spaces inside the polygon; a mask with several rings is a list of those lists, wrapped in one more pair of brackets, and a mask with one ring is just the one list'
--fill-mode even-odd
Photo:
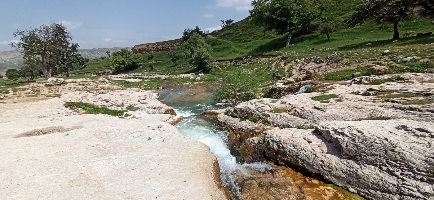
{"label": "rounded green tree standing just behind the stream's upper pool", "polygon": [[193,33],[190,39],[182,45],[184,55],[190,58],[190,65],[199,69],[199,72],[208,72],[210,64],[213,62],[211,56],[213,49],[205,39],[197,33]]}

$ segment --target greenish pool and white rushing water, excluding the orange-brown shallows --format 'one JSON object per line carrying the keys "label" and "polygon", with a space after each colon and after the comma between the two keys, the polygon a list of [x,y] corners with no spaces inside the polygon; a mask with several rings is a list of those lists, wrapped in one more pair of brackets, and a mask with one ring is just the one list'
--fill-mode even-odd
{"label": "greenish pool and white rushing water, excluding the orange-brown shallows", "polygon": [[177,117],[189,117],[176,125],[176,128],[191,140],[201,141],[210,147],[220,164],[220,177],[224,186],[230,191],[233,199],[241,199],[240,187],[237,186],[234,172],[251,176],[247,171],[256,170],[265,172],[273,170],[269,164],[253,163],[240,164],[230,154],[227,146],[227,131],[207,116],[201,115],[203,111],[226,108],[212,99],[212,92],[218,83],[201,83],[194,85],[177,86],[174,89],[158,91],[160,101],[174,108]]}

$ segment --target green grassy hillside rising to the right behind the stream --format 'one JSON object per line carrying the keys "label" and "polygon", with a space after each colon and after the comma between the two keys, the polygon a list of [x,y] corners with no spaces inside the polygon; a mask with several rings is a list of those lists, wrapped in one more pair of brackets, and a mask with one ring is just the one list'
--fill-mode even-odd
{"label": "green grassy hillside rising to the right behind the stream", "polygon": [[[352,7],[358,0],[336,0],[335,13],[338,20],[345,20],[353,13]],[[278,35],[273,31],[264,32],[263,27],[250,22],[249,18],[233,23],[222,30],[210,33],[206,38],[207,43],[212,46],[214,60],[236,59],[255,55],[282,55],[287,57],[286,63],[294,60],[317,56],[319,59],[328,58],[334,55],[332,62],[342,62],[342,67],[365,63],[368,61],[390,59],[392,56],[404,55],[421,56],[424,59],[434,59],[434,37],[433,36],[408,36],[405,32],[415,31],[416,33],[432,32],[434,26],[428,17],[415,16],[411,20],[402,21],[399,24],[401,38],[391,39],[392,25],[378,25],[366,23],[363,26],[345,27],[345,29],[331,34],[331,41],[319,33],[302,35],[296,32],[290,46],[285,46],[286,35]],[[319,22],[313,22],[311,30],[315,31]],[[385,49],[391,51],[383,56]],[[182,54],[182,49],[175,49]],[[187,59],[182,58],[178,65],[174,65],[168,56],[168,51],[152,52],[152,59],[149,54],[139,54],[142,57],[141,66],[138,69],[126,73],[156,73],[156,74],[182,74],[194,73],[196,70],[188,66]],[[227,71],[236,67],[246,69],[252,73],[253,79],[257,79],[260,85],[266,87],[276,82],[273,73],[278,72],[282,77],[293,75],[295,69],[288,69],[277,60],[263,60],[248,62],[243,65],[236,63],[216,62],[210,75],[224,77]],[[82,70],[72,71],[71,74],[89,73],[109,69],[109,59],[98,59],[89,61],[88,67]],[[351,68],[351,67],[350,67]],[[355,68],[355,67],[353,67]],[[345,72],[337,72],[339,75],[328,74],[318,76],[319,79],[348,79],[348,74],[365,69],[346,69]],[[336,70],[334,70],[336,71]],[[339,69],[338,69],[339,71]],[[397,72],[405,70],[397,70]],[[331,73],[334,73],[333,70]],[[344,73],[345,75],[342,75]],[[337,77],[339,76],[339,77]],[[212,77],[210,80],[214,80]],[[194,81],[194,80],[192,80]],[[174,81],[179,83],[179,80]],[[185,82],[185,81],[184,81]]]}

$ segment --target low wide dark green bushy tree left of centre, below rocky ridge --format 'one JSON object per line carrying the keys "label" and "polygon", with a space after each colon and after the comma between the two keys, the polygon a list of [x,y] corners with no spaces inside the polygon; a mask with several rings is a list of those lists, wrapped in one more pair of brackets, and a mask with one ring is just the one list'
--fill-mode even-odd
{"label": "low wide dark green bushy tree left of centre, below rocky ridge", "polygon": [[112,66],[115,70],[128,70],[133,69],[140,63],[141,57],[133,54],[125,48],[120,51],[112,52]]}

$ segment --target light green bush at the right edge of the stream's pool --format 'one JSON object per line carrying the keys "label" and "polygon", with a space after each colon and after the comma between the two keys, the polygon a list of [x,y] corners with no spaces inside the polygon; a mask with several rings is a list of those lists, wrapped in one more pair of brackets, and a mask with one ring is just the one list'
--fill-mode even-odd
{"label": "light green bush at the right edge of the stream's pool", "polygon": [[241,69],[230,72],[226,83],[216,88],[214,99],[217,102],[230,103],[233,106],[247,102],[256,96],[257,82]]}

